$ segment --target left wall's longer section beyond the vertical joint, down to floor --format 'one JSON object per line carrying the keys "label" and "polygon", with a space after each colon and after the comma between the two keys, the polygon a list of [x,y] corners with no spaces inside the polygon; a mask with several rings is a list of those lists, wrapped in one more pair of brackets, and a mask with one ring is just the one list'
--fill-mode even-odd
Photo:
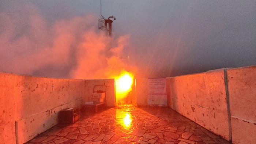
{"label": "left wall's longer section beyond the vertical joint, down to floor", "polygon": [[79,107],[84,80],[17,76],[15,123],[18,142],[23,143],[58,123],[58,112]]}

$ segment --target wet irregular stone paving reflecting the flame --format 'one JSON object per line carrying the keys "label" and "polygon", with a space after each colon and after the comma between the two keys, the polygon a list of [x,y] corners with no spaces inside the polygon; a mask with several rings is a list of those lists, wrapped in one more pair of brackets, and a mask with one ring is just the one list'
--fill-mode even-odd
{"label": "wet irregular stone paving reflecting the flame", "polygon": [[168,108],[111,108],[56,125],[27,144],[229,144]]}

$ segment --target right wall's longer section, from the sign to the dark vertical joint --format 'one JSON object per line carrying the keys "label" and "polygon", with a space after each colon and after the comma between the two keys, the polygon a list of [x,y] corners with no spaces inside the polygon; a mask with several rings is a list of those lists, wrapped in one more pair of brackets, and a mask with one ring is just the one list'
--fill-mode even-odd
{"label": "right wall's longer section, from the sign to the dark vertical joint", "polygon": [[169,107],[229,140],[224,71],[167,78]]}

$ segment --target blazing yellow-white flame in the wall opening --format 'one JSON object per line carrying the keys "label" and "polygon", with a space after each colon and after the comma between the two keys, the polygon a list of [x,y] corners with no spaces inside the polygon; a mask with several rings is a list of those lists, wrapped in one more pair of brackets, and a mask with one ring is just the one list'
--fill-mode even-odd
{"label": "blazing yellow-white flame in the wall opening", "polygon": [[124,71],[116,79],[116,97],[117,99],[123,99],[127,96],[128,92],[132,89],[133,75]]}

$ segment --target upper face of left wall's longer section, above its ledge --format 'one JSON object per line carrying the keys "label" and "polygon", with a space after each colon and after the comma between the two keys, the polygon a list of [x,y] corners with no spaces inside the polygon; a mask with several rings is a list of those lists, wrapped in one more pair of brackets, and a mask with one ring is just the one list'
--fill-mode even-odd
{"label": "upper face of left wall's longer section, above its ledge", "polygon": [[26,118],[82,99],[83,89],[84,80],[18,76],[15,119]]}

